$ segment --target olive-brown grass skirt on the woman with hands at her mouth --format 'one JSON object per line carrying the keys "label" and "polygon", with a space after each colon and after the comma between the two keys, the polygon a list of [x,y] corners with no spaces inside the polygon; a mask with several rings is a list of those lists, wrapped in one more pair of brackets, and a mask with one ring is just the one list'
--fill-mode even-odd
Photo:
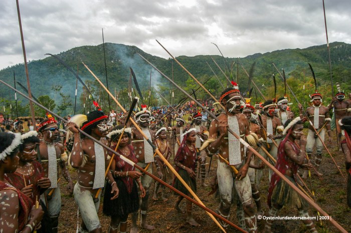
{"label": "olive-brown grass skirt on the woman with hands at her mouth", "polygon": [[[295,180],[285,175],[292,183],[296,185]],[[296,206],[296,208],[306,208],[308,203],[303,199],[292,187],[289,186],[283,179],[280,179],[277,185],[274,187],[271,197],[272,204],[280,206],[290,205]]]}

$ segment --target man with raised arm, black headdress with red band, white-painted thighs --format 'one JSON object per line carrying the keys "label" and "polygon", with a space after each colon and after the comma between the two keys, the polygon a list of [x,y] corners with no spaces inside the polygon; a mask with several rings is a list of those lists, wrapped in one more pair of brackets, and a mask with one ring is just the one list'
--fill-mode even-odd
{"label": "man with raised arm, black headdress with red band, white-painted thighs", "polygon": [[[99,188],[105,185],[105,169],[108,166],[110,157],[107,150],[90,138],[82,138],[78,131],[81,129],[108,145],[103,137],[107,135],[108,118],[101,110],[91,111],[88,115],[78,114],[68,122],[68,128],[74,133],[74,145],[69,158],[69,163],[78,169],[78,181],[74,186],[74,198],[82,215],[82,224],[79,232],[102,232],[97,212],[100,204],[100,194],[95,198]],[[118,187],[114,181],[111,171],[107,173],[107,185],[112,186],[111,199],[118,196]]]}

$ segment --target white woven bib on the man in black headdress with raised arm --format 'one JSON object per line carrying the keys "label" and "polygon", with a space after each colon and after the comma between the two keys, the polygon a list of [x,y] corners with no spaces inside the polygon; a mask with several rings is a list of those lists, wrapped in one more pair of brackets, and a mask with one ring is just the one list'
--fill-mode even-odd
{"label": "white woven bib on the man in black headdress with raised arm", "polygon": [[93,189],[105,185],[105,155],[102,146],[94,141],[95,151],[95,176]]}

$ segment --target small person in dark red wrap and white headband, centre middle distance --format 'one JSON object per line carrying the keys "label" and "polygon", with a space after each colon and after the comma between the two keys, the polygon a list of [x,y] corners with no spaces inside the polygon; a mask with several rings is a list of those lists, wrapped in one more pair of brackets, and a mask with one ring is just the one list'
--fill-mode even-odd
{"label": "small person in dark red wrap and white headband, centre middle distance", "polygon": [[[177,154],[174,157],[175,170],[184,179],[184,181],[191,187],[196,193],[196,129],[191,128],[184,133],[184,139],[181,146],[179,147]],[[186,195],[189,195],[189,191],[182,184],[182,182],[174,177],[173,187],[177,188]],[[180,213],[185,213],[180,207],[183,196],[179,196],[177,202],[175,202],[174,208]],[[199,226],[200,224],[195,221],[192,214],[192,202],[187,200],[187,222],[193,226]]]}

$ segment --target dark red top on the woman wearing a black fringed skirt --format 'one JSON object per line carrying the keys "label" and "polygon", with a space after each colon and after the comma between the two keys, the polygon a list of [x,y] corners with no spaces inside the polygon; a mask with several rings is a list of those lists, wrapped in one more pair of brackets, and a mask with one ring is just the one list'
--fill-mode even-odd
{"label": "dark red top on the woman wearing a black fringed skirt", "polygon": [[[131,145],[127,145],[127,147],[129,148],[129,155],[126,156],[129,160],[133,161],[134,163],[138,162],[138,159],[135,156],[133,147]],[[111,146],[111,149],[115,149],[116,145]],[[122,154],[122,151],[120,149],[117,149],[117,152],[119,154]],[[112,152],[109,152],[110,156],[112,156]],[[119,156],[114,156],[113,157],[115,164],[116,164],[116,171],[132,171],[135,170],[135,167],[130,165],[129,163],[125,162],[123,159],[121,159]],[[121,179],[123,181],[123,183],[125,184],[125,186],[127,187],[127,191],[128,193],[130,193],[132,191],[133,188],[133,178],[131,177],[118,177],[119,179]]]}

